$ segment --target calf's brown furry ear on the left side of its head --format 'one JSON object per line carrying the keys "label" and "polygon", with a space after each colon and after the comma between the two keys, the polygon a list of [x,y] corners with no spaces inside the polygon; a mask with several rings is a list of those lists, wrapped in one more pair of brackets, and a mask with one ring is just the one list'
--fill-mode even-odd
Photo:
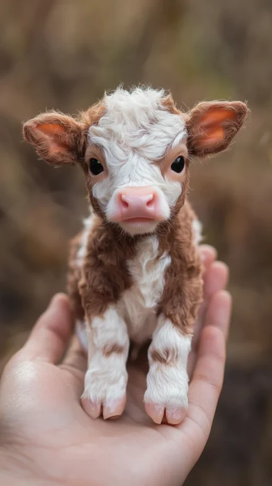
{"label": "calf's brown furry ear on the left side of its head", "polygon": [[55,111],[26,121],[23,135],[38,156],[51,165],[75,164],[83,146],[83,127],[73,117]]}

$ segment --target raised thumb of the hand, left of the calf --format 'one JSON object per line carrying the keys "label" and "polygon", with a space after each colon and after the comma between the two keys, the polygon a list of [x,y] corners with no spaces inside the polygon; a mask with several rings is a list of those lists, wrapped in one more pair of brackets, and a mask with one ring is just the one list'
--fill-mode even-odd
{"label": "raised thumb of the hand, left of the calf", "polygon": [[38,319],[20,358],[58,363],[73,330],[73,315],[65,294],[56,294]]}

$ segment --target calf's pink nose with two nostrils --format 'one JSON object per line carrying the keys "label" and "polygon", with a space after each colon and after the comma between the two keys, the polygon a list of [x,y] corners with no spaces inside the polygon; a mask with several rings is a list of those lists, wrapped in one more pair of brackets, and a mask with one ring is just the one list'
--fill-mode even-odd
{"label": "calf's pink nose with two nostrils", "polygon": [[126,187],[119,194],[119,208],[123,221],[133,218],[153,219],[155,193],[152,187]]}

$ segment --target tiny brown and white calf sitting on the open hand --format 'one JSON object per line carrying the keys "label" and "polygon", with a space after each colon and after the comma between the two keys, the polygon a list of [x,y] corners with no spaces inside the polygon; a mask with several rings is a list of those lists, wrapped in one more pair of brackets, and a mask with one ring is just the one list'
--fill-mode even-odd
{"label": "tiny brown and white calf sitting on the open hand", "polygon": [[82,405],[92,418],[124,412],[130,341],[150,339],[146,413],[156,424],[185,417],[203,287],[189,162],[226,149],[246,112],[239,101],[181,112],[163,90],[118,88],[76,118],[51,111],[24,125],[41,158],[85,174],[91,212],[71,243],[68,287],[87,331]]}

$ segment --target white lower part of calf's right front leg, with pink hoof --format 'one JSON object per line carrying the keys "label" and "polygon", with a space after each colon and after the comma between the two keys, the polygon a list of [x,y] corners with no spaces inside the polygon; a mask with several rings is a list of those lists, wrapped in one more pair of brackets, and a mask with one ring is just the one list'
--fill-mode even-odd
{"label": "white lower part of calf's right front leg, with pink hoof", "polygon": [[144,394],[146,413],[160,424],[164,410],[169,424],[180,424],[188,408],[187,358],[192,335],[182,333],[161,314],[148,349],[149,371]]}

